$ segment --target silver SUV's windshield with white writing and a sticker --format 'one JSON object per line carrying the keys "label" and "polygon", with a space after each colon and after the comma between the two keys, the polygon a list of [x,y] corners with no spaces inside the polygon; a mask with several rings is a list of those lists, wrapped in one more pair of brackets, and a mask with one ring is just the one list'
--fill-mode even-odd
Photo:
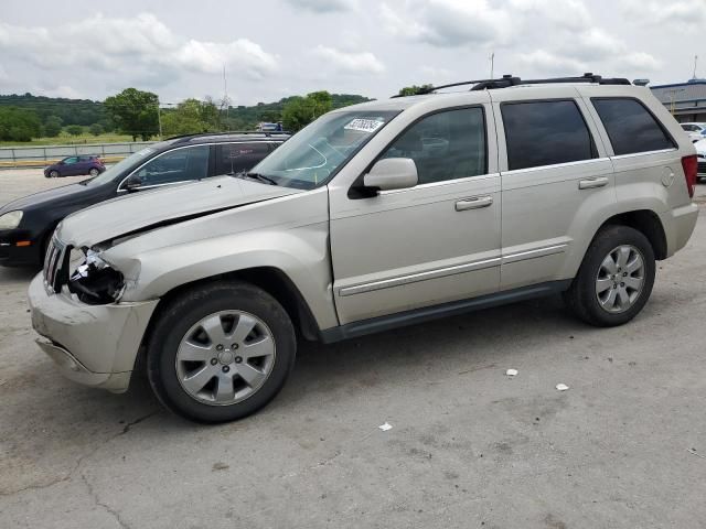
{"label": "silver SUV's windshield with white writing and a sticker", "polygon": [[252,172],[279,185],[311,190],[327,183],[398,114],[397,110],[328,114],[291,137]]}

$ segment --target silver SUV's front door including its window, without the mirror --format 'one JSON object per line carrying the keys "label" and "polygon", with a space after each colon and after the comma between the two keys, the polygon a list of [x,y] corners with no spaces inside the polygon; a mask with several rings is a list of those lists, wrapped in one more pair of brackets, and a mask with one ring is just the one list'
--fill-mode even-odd
{"label": "silver SUV's front door including its window, without the mirror", "polygon": [[[490,105],[436,111],[378,156],[410,158],[419,184],[331,203],[341,324],[495,292],[500,175]],[[339,191],[339,190],[336,190]]]}

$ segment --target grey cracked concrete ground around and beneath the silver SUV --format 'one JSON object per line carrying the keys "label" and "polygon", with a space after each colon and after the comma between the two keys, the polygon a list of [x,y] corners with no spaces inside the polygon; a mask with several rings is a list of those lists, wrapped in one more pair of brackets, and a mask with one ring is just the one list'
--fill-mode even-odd
{"label": "grey cracked concrete ground around and beneath the silver SUV", "polygon": [[[0,172],[0,203],[66,181]],[[0,269],[0,527],[704,528],[704,262],[702,215],[620,328],[552,298],[303,344],[268,408],[220,427],[141,379],[61,378],[33,344],[33,272]]]}

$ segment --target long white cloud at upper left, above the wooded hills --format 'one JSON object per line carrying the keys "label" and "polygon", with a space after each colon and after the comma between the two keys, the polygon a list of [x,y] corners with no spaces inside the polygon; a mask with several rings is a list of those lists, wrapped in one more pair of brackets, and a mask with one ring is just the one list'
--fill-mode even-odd
{"label": "long white cloud at upper left, above the wooded hills", "polygon": [[[100,34],[87,28],[100,28]],[[42,69],[86,66],[92,72],[119,73],[127,83],[147,78],[159,84],[182,72],[217,74],[224,64],[248,78],[260,79],[278,67],[277,56],[252,41],[188,40],[149,13],[132,19],[96,14],[64,25],[58,37],[46,28],[0,23],[0,54]]]}

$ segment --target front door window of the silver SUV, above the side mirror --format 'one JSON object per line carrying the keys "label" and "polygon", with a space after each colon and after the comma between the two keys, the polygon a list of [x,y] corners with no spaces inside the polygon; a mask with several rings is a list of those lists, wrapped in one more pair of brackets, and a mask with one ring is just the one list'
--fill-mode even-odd
{"label": "front door window of the silver SUV, above the side mirror", "polygon": [[397,138],[382,158],[410,158],[420,184],[486,173],[485,119],[480,107],[434,114]]}

